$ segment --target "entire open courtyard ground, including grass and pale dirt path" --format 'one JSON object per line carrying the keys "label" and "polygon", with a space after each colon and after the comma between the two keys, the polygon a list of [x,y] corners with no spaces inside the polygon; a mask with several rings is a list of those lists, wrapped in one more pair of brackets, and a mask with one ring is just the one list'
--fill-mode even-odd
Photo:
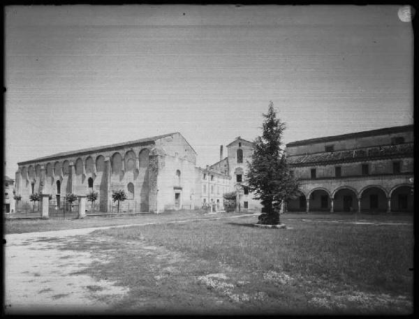
{"label": "entire open courtyard ground, including grass and pale dirt path", "polygon": [[413,216],[284,214],[286,230],[256,221],[6,221],[6,313],[413,312]]}

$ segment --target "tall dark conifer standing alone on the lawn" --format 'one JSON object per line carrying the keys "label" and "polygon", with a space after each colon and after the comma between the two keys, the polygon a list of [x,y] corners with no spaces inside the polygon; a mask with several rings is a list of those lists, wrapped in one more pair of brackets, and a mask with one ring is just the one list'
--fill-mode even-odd
{"label": "tall dark conifer standing alone on the lawn", "polygon": [[277,119],[272,101],[263,117],[263,133],[254,141],[247,179],[249,190],[263,206],[258,223],[278,225],[281,203],[297,197],[298,184],[286,165],[281,149],[285,124]]}

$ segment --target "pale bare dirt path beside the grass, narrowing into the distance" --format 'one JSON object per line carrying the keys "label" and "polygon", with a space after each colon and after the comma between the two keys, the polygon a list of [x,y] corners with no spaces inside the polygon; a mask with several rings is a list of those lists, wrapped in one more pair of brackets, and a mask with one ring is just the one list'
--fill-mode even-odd
{"label": "pale bare dirt path beside the grass, narrowing into the distance", "polygon": [[[247,215],[205,218],[240,218]],[[194,220],[170,221],[186,223]],[[195,220],[196,221],[196,220]],[[135,225],[151,225],[138,223]],[[165,223],[165,222],[163,222]],[[119,302],[128,289],[112,281],[95,281],[91,276],[77,274],[95,260],[90,253],[69,254],[59,248],[75,242],[74,236],[117,225],[97,228],[27,232],[5,235],[5,313],[105,313]],[[57,241],[57,238],[60,240]],[[76,247],[75,247],[76,248]]]}

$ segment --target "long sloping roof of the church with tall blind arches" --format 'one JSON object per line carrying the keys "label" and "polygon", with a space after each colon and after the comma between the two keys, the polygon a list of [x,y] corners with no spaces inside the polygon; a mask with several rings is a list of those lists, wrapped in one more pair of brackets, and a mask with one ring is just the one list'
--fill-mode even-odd
{"label": "long sloping roof of the church with tall blind arches", "polygon": [[24,165],[27,163],[38,162],[38,161],[46,161],[46,160],[72,156],[72,155],[81,155],[81,154],[86,154],[86,153],[88,154],[94,151],[105,151],[108,149],[115,149],[117,147],[126,147],[126,146],[137,145],[137,144],[148,144],[150,142],[154,142],[155,140],[160,140],[161,138],[166,138],[166,136],[177,134],[177,133],[179,132],[157,135],[157,136],[153,136],[152,138],[142,138],[140,140],[121,142],[117,144],[109,144],[109,145],[103,145],[103,146],[98,146],[98,147],[89,147],[87,149],[78,149],[77,151],[63,151],[61,153],[43,156],[43,157],[35,158],[29,161],[20,162],[20,163],[17,163],[17,165]]}

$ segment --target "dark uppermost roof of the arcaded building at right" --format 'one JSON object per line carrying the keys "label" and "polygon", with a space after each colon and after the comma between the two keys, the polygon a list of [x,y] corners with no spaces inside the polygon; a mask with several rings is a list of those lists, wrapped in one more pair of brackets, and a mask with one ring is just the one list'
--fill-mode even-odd
{"label": "dark uppermost roof of the arcaded building at right", "polygon": [[413,125],[393,126],[387,128],[378,128],[377,130],[361,131],[355,133],[347,133],[341,135],[325,136],[323,138],[310,138],[308,140],[299,140],[286,144],[286,147],[300,146],[312,143],[332,142],[336,140],[347,140],[349,138],[367,138],[369,136],[400,133],[406,131],[413,131]]}

